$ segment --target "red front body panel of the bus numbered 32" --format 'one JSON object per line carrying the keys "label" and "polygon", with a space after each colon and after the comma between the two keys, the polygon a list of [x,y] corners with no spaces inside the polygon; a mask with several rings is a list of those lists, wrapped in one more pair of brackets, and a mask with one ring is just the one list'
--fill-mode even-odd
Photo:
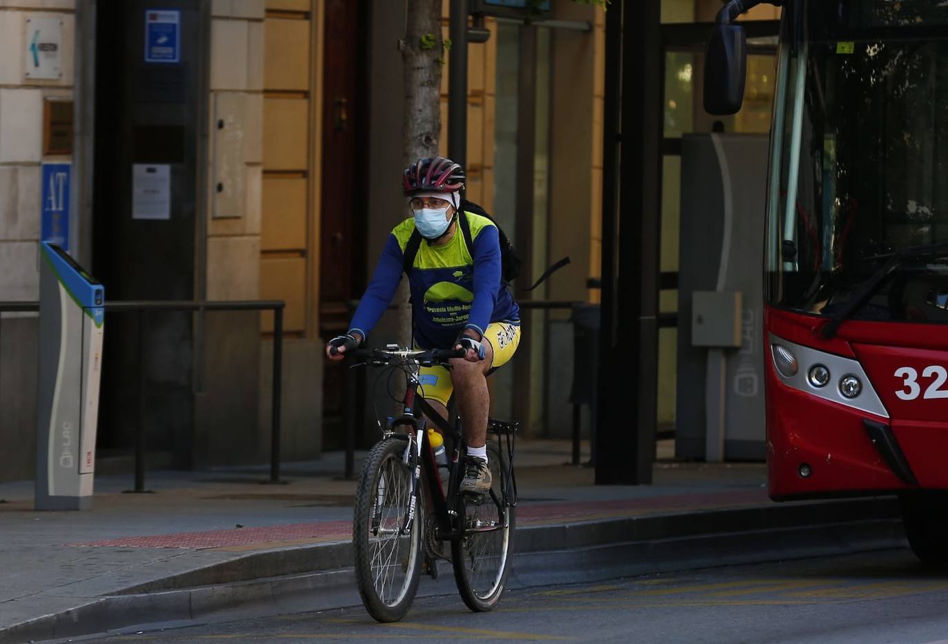
{"label": "red front body panel of the bus numbered 32", "polygon": [[[825,318],[768,308],[764,322],[773,498],[913,489],[887,464],[863,420],[891,428],[921,488],[948,489],[948,326],[847,321],[827,341],[815,332]],[[770,359],[773,337],[858,360],[889,418],[785,384]]]}

